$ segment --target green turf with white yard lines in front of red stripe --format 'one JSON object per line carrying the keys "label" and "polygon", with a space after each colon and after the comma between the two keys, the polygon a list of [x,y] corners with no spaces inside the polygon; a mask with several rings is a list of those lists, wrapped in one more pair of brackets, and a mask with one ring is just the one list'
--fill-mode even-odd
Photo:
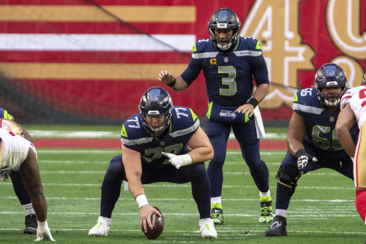
{"label": "green turf with white yard lines in front of red stripe", "polygon": [[[38,148],[38,164],[48,203],[48,223],[55,242],[88,243],[364,243],[365,223],[355,206],[354,184],[335,171],[321,169],[303,175],[288,209],[287,237],[265,237],[268,224],[258,223],[258,190],[239,150],[230,150],[224,165],[224,225],[218,239],[203,240],[190,184],[156,183],[145,186],[150,205],[163,212],[165,227],[157,240],[139,231],[139,211],[131,193],[123,191],[112,215],[107,237],[88,237],[100,211],[101,184],[109,160],[118,149]],[[262,151],[270,172],[273,205],[275,175],[284,151]],[[207,164],[206,164],[207,166]],[[24,235],[24,212],[10,180],[1,182],[0,243],[32,243]]]}

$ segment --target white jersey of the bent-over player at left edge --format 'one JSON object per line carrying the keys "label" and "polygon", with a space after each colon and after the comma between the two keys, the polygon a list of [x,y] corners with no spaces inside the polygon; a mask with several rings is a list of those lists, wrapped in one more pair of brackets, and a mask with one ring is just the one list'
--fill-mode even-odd
{"label": "white jersey of the bent-over player at left edge", "polygon": [[32,148],[37,156],[36,147],[9,130],[0,128],[1,138],[1,170],[19,170],[20,165],[27,158],[29,148]]}

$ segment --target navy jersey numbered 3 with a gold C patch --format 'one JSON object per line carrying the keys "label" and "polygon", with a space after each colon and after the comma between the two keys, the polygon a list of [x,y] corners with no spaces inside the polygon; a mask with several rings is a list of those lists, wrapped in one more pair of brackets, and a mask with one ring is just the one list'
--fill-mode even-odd
{"label": "navy jersey numbered 3 with a gold C patch", "polygon": [[201,70],[208,98],[223,106],[241,106],[250,99],[252,75],[257,85],[269,84],[261,44],[252,37],[239,37],[227,55],[217,50],[210,39],[195,42],[190,63],[181,76],[189,86]]}

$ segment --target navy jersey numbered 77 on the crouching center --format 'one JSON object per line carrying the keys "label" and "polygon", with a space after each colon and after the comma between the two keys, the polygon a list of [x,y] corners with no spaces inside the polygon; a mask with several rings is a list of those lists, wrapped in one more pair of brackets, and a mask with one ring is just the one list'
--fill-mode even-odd
{"label": "navy jersey numbered 77 on the crouching center", "polygon": [[123,123],[121,141],[125,147],[140,152],[141,161],[154,168],[170,164],[162,152],[175,155],[189,152],[187,142],[199,127],[199,119],[194,112],[181,106],[173,106],[168,133],[162,137],[147,132],[141,119],[141,114],[134,114]]}

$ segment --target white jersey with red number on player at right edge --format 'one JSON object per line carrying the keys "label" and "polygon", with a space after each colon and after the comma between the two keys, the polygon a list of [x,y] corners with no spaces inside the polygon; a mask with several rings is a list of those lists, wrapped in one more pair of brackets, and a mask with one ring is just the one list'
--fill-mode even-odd
{"label": "white jersey with red number on player at right edge", "polygon": [[347,90],[342,96],[341,110],[347,103],[350,103],[358,128],[361,129],[361,124],[366,121],[366,86],[357,86]]}

